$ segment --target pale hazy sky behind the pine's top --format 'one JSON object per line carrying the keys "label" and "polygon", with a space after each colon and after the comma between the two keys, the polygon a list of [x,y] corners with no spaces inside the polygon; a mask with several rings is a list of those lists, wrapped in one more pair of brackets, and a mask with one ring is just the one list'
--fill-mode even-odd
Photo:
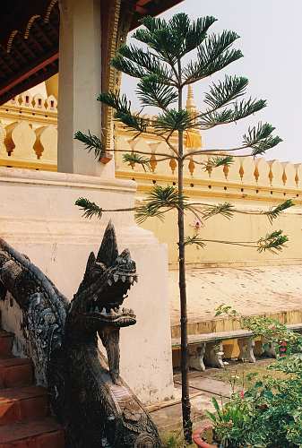
{"label": "pale hazy sky behind the pine's top", "polygon": [[[246,76],[248,94],[267,99],[268,106],[238,125],[218,126],[203,134],[206,147],[236,146],[248,125],[266,121],[276,126],[284,140],[267,153],[267,159],[302,161],[302,0],[185,0],[162,14],[186,12],[191,18],[213,15],[218,19],[211,30],[235,30],[235,43],[244,58],[205,82],[194,84],[197,107],[203,107],[203,92],[209,81],[223,79],[225,73]],[[130,39],[133,40],[134,39]],[[134,94],[135,80],[125,76],[123,90],[139,103]]]}

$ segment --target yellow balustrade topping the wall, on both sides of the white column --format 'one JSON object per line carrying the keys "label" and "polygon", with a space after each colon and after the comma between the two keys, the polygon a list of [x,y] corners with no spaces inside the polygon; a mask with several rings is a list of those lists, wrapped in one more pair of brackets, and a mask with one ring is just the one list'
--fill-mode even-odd
{"label": "yellow balustrade topping the wall, on both sides of the white column", "polygon": [[[57,161],[57,101],[53,96],[44,98],[25,92],[0,107],[0,165],[17,168],[34,168],[56,171]],[[121,125],[115,125],[116,150],[151,152],[151,171],[140,166],[129,166],[116,152],[116,177],[134,178],[139,190],[151,185],[173,183],[177,180],[177,164],[172,160],[159,162],[157,153],[168,152],[165,142],[151,134],[144,134],[134,141]],[[293,164],[279,160],[251,157],[236,158],[227,167],[206,171],[199,157],[198,164],[187,159],[185,167],[186,188],[203,194],[239,195],[240,197],[281,196],[299,197],[302,189],[302,163]],[[197,193],[197,192],[196,192]]]}

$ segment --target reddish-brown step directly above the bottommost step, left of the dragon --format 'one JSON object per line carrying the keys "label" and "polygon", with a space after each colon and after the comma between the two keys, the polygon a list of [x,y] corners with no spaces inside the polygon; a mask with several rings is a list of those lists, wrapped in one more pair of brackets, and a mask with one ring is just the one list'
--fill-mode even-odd
{"label": "reddish-brown step directly above the bottommost step, left of the dragon", "polygon": [[15,387],[0,391],[0,426],[45,418],[48,413],[47,390],[43,387]]}

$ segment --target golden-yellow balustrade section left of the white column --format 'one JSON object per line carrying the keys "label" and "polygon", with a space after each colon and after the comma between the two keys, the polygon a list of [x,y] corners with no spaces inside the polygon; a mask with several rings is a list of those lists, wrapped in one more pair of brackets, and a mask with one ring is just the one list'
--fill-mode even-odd
{"label": "golden-yellow balustrade section left of the white column", "polygon": [[29,92],[0,108],[0,166],[56,171],[57,101]]}

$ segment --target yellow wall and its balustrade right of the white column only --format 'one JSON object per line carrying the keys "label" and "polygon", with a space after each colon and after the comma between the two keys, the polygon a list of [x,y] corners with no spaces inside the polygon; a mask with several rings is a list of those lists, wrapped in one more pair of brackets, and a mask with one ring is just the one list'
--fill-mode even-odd
{"label": "yellow wall and its balustrade right of the white column only", "polygon": [[[138,184],[137,203],[142,203],[145,194],[154,185],[176,185],[177,167],[169,160],[157,162],[157,152],[167,152],[164,143],[154,142],[154,137],[139,137],[134,142],[131,136],[116,125],[116,149],[124,151],[151,151],[151,172],[142,167],[128,167],[123,164],[121,153],[116,156],[116,177],[133,179]],[[135,146],[134,146],[135,144]],[[203,156],[199,162],[206,161]],[[279,160],[242,157],[234,159],[229,167],[214,168],[211,172],[202,165],[188,159],[185,168],[185,194],[191,202],[204,204],[232,203],[241,213],[235,213],[230,220],[216,216],[201,223],[196,228],[196,218],[186,213],[186,236],[198,233],[204,239],[230,241],[257,241],[272,230],[280,228],[289,236],[287,247],[278,255],[259,254],[255,248],[209,243],[204,249],[187,246],[186,263],[197,266],[236,266],[266,263],[301,263],[302,214],[302,164],[280,162]],[[247,215],[245,211],[268,211],[271,207],[292,199],[295,207],[281,213],[272,224],[265,216]],[[165,220],[157,218],[142,224],[162,242],[168,243],[170,268],[177,268],[177,216],[173,211]]]}

